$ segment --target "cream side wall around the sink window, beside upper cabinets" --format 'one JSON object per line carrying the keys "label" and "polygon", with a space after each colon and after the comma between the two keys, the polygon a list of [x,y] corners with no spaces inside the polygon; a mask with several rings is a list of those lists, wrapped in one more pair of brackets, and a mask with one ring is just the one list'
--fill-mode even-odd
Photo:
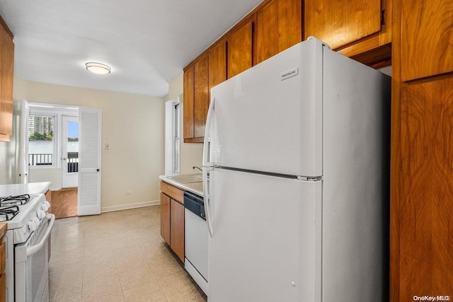
{"label": "cream side wall around the sink window, beside upper cabinets", "polygon": [[[164,100],[173,100],[180,95],[180,100],[183,102],[183,74],[180,74],[176,79],[171,81],[168,95]],[[184,102],[183,102],[184,112]],[[181,116],[184,113],[181,113]],[[184,133],[184,129],[183,129]],[[199,170],[193,170],[192,167],[197,165],[201,167],[203,160],[203,144],[184,144],[180,146],[180,173],[195,174],[200,173]]]}

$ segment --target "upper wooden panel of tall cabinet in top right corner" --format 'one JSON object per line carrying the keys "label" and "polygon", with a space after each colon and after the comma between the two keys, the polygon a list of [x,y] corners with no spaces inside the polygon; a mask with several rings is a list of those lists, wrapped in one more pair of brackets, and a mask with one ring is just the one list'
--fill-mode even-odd
{"label": "upper wooden panel of tall cabinet in top right corner", "polygon": [[401,1],[401,26],[403,81],[453,71],[451,0]]}

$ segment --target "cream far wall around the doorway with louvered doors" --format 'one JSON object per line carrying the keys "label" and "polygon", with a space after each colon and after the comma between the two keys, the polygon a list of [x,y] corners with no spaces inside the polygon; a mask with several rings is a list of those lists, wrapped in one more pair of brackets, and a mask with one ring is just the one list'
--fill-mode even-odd
{"label": "cream far wall around the doorway with louvered doors", "polygon": [[[110,150],[102,150],[102,211],[159,201],[159,175],[164,173],[164,100],[20,79],[16,82],[20,87],[16,95],[29,102],[102,110],[102,146],[110,144]],[[0,168],[3,165],[0,162]],[[32,171],[30,182],[52,181],[39,179],[41,176],[45,177]],[[132,195],[126,197],[126,191]]]}

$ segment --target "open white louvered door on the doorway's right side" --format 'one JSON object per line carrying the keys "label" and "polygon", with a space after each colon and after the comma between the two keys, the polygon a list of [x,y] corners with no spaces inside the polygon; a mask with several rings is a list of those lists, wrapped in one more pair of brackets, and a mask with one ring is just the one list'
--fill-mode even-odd
{"label": "open white louvered door on the doorway's right side", "polygon": [[101,214],[101,125],[101,110],[79,109],[79,216]]}

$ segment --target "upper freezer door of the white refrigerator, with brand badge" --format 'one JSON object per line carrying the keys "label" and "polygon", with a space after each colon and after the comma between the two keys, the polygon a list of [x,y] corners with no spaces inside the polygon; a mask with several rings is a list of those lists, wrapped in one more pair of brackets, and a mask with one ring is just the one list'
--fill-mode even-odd
{"label": "upper freezer door of the white refrigerator, with brand badge", "polygon": [[321,175],[322,50],[299,43],[212,88],[214,165]]}

